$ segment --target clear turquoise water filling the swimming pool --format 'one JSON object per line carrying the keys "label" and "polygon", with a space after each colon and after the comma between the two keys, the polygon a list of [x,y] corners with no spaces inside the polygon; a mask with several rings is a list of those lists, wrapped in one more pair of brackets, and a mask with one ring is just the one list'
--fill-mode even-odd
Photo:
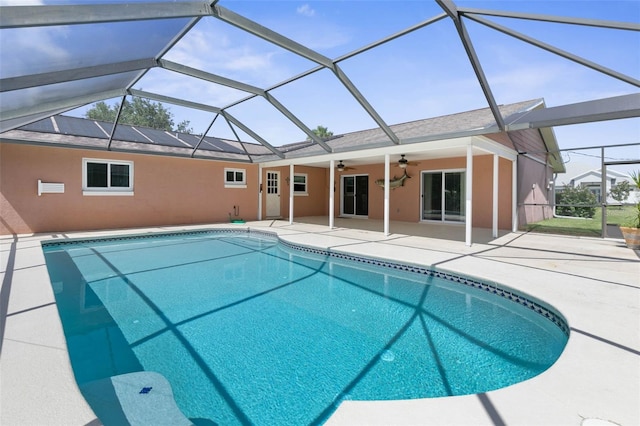
{"label": "clear turquoise water filling the swimming pool", "polygon": [[556,314],[495,286],[255,232],[43,250],[80,388],[159,372],[196,424],[318,424],[345,399],[486,392],[540,374],[567,341]]}

